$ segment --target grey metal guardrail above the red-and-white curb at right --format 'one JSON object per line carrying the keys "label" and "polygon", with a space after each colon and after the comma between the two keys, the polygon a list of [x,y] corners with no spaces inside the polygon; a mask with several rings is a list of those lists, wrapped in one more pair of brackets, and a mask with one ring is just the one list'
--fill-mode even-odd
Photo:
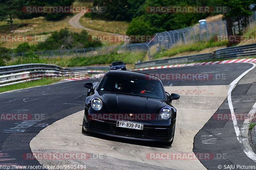
{"label": "grey metal guardrail above the red-and-white curb at right", "polygon": [[181,57],[172,57],[166,59],[159,59],[159,60],[151,60],[145,61],[135,64],[135,68],[143,68],[143,67],[156,67],[166,64],[179,64],[179,63],[187,63],[187,62],[196,62],[202,60],[211,60],[211,59],[218,59],[218,58],[239,58],[239,57],[252,57],[256,56],[256,43],[249,44],[244,46],[234,46],[234,47],[227,47],[221,48],[213,53],[204,53],[204,54],[195,54],[195,55],[187,55]]}

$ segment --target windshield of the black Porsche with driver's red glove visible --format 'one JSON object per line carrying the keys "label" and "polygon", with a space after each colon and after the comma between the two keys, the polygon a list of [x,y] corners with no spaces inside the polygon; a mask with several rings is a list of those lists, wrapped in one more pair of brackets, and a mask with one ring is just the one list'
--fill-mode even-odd
{"label": "windshield of the black Porsche with driver's red glove visible", "polygon": [[145,78],[130,75],[107,75],[102,79],[98,91],[165,99],[160,81],[150,80],[148,75],[145,75]]}

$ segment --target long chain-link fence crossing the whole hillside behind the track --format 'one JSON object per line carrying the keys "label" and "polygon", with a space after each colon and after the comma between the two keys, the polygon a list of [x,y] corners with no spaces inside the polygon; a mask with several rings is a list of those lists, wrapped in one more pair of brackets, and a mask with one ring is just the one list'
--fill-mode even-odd
{"label": "long chain-link fence crossing the whole hillside behind the track", "polygon": [[[237,34],[242,22],[235,22],[233,25],[233,34]],[[248,26],[252,27],[256,23],[256,11],[248,18]],[[244,30],[242,30],[244,31]],[[104,46],[94,48],[81,49],[63,49],[63,50],[48,50],[36,51],[42,58],[69,58],[69,57],[91,57],[110,53],[124,53],[134,51],[148,51],[149,60],[151,56],[160,52],[162,49],[169,49],[177,45],[192,44],[199,41],[208,41],[215,35],[228,35],[226,21],[219,20],[215,22],[202,22],[195,26],[156,33],[149,42],[132,43],[122,46]],[[24,53],[4,54],[10,55],[12,60],[17,56],[22,56]]]}

